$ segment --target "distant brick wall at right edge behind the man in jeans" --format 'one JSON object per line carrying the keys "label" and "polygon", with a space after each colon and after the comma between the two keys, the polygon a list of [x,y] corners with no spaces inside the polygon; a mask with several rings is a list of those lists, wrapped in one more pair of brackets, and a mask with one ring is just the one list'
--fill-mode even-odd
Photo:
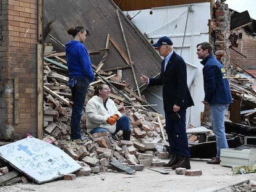
{"label": "distant brick wall at right edge behind the man in jeans", "polygon": [[256,70],[256,36],[249,35],[242,29],[234,31],[232,35],[237,36],[236,46],[232,46],[232,48],[245,57],[231,49],[231,65],[234,65],[234,61],[244,69]]}

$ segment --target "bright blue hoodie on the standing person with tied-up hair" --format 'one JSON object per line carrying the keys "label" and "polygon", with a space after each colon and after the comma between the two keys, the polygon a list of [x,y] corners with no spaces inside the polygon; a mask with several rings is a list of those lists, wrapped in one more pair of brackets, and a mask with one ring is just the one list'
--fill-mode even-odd
{"label": "bright blue hoodie on the standing person with tied-up hair", "polygon": [[92,64],[87,49],[79,41],[69,41],[65,46],[69,78],[88,78],[94,80]]}

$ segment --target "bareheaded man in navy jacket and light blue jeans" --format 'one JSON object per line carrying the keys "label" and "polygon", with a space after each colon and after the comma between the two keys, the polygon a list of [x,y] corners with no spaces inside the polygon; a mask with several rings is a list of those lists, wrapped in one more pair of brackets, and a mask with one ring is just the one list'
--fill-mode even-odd
{"label": "bareheaded man in navy jacket and light blue jeans", "polygon": [[203,42],[197,45],[198,59],[203,59],[203,85],[205,98],[203,104],[210,106],[211,128],[216,138],[217,154],[208,164],[220,164],[220,149],[228,148],[224,127],[224,115],[232,96],[229,88],[228,76],[223,65],[213,57],[213,48],[210,43]]}

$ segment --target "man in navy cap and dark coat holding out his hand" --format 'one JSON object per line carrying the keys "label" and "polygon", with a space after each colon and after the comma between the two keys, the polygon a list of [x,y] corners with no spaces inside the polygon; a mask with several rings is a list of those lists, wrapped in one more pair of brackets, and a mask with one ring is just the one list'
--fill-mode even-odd
{"label": "man in navy cap and dark coat holding out his hand", "polygon": [[190,169],[190,151],[186,133],[186,109],[194,102],[187,87],[186,63],[173,51],[173,41],[161,37],[152,45],[164,57],[158,78],[140,77],[148,86],[163,86],[163,104],[166,119],[166,133],[171,149],[171,159],[165,167]]}

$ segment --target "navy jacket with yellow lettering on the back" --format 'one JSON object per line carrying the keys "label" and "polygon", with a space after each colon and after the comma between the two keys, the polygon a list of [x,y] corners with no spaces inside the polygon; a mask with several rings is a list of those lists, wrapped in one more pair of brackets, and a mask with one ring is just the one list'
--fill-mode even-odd
{"label": "navy jacket with yellow lettering on the back", "polygon": [[228,76],[223,65],[208,55],[201,61],[203,67],[203,84],[205,101],[210,104],[230,104],[233,102],[228,82]]}

